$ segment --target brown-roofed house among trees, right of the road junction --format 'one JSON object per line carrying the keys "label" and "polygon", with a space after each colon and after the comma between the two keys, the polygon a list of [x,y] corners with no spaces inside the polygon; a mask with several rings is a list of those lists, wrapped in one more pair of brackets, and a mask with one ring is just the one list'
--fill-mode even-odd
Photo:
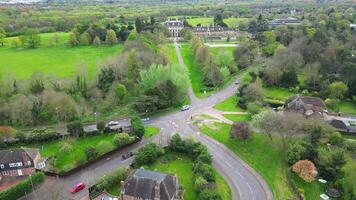
{"label": "brown-roofed house among trees, right of the road junction", "polygon": [[286,111],[295,111],[306,116],[314,114],[322,115],[326,106],[320,98],[308,96],[293,96],[286,100],[284,104]]}

